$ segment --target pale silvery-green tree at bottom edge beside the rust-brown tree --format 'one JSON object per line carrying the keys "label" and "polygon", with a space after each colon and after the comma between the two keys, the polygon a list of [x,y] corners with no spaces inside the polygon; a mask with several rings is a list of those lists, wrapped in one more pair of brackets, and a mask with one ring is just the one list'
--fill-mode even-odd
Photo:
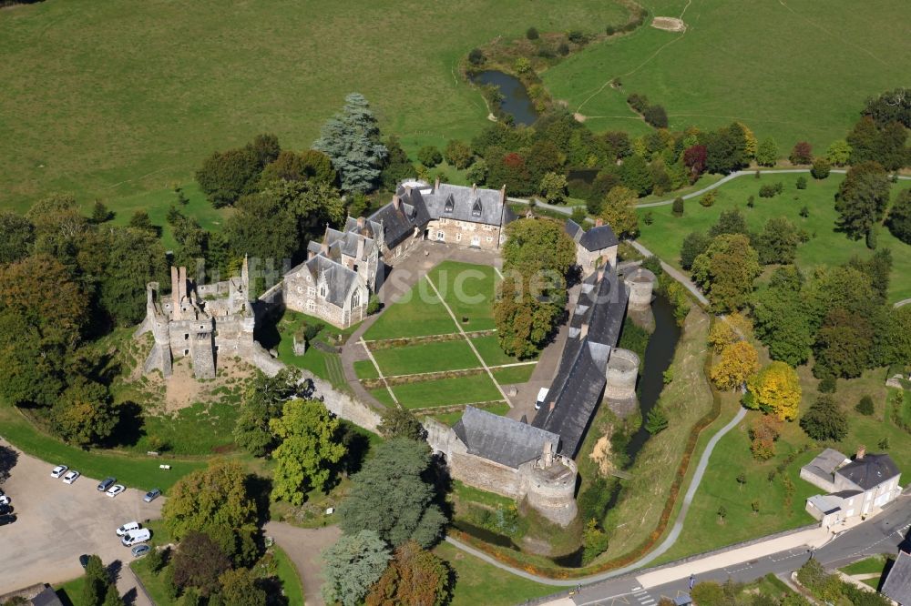
{"label": "pale silvery-green tree at bottom edge beside the rust-brown tree", "polygon": [[374,530],[343,534],[322,552],[322,596],[344,606],[361,603],[380,580],[390,559],[384,540]]}

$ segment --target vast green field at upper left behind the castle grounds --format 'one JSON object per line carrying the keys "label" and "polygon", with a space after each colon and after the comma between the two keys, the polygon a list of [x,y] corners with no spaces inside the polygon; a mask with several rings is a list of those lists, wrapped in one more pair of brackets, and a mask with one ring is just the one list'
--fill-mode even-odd
{"label": "vast green field at upper left behind the castle grounds", "polygon": [[[309,147],[363,93],[384,132],[445,146],[486,125],[457,62],[498,35],[602,29],[611,0],[47,0],[0,11],[0,206],[52,191],[90,204],[187,183],[261,132]],[[112,204],[115,210],[117,204]]]}

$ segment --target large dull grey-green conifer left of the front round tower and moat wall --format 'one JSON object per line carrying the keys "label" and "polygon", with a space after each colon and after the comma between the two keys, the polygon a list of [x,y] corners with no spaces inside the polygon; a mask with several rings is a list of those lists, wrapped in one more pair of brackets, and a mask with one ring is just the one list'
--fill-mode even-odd
{"label": "large dull grey-green conifer left of the front round tower and moat wall", "polygon": [[374,449],[375,456],[352,476],[348,498],[339,505],[339,526],[351,535],[374,530],[398,546],[415,540],[433,545],[445,525],[433,501],[435,489],[426,480],[430,449],[413,439],[390,439]]}

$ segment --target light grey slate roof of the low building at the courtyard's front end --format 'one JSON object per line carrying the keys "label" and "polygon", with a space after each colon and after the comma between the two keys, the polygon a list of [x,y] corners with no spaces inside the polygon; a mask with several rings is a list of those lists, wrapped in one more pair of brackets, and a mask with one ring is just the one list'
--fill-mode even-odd
{"label": "light grey slate roof of the low building at the courtyard's front end", "polygon": [[553,444],[556,450],[560,440],[557,434],[550,431],[472,406],[466,407],[453,430],[465,443],[469,454],[513,469],[541,456],[547,442]]}

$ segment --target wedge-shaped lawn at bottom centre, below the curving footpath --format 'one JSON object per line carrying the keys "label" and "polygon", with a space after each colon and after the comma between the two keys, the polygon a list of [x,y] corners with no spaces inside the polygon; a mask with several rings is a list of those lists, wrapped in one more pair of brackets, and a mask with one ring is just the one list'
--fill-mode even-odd
{"label": "wedge-shaped lawn at bottom centre, below the curving footpath", "polygon": [[448,543],[440,543],[434,551],[455,569],[452,606],[509,606],[559,592],[559,588],[500,571]]}

